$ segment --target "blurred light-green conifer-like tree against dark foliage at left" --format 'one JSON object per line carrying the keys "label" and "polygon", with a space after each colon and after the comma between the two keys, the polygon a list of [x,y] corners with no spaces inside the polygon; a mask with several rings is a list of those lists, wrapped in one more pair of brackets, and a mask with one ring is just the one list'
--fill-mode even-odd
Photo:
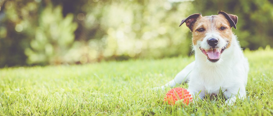
{"label": "blurred light-green conifer-like tree against dark foliage at left", "polygon": [[74,42],[74,31],[77,24],[73,15],[62,16],[62,7],[52,8],[47,5],[39,17],[35,31],[35,39],[31,40],[30,48],[25,49],[29,64],[61,64],[63,56]]}

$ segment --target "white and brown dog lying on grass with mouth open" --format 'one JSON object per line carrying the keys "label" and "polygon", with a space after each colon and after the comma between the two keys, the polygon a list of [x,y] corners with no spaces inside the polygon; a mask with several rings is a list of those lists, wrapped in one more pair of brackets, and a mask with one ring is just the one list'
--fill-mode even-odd
{"label": "white and brown dog lying on grass with mouth open", "polygon": [[182,20],[180,26],[185,23],[192,32],[195,61],[161,89],[188,81],[188,91],[197,98],[221,94],[230,105],[236,98],[244,99],[249,66],[231,29],[236,29],[237,22],[236,15],[224,11],[211,16],[192,14]]}

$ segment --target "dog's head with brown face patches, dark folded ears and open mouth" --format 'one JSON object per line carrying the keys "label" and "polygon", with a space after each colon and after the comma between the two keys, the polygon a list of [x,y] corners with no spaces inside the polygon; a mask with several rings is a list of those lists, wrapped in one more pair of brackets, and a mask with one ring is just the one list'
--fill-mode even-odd
{"label": "dog's head with brown face patches, dark folded ears and open mouth", "polygon": [[182,20],[180,26],[186,23],[192,31],[194,47],[207,56],[211,62],[217,62],[221,53],[230,47],[232,40],[231,27],[236,29],[238,17],[219,11],[218,15],[202,16],[192,14]]}

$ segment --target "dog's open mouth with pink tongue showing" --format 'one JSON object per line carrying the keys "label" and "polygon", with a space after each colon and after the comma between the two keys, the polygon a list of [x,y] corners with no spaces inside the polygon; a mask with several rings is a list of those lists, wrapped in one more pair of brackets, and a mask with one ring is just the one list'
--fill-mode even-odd
{"label": "dog's open mouth with pink tongue showing", "polygon": [[208,50],[200,48],[200,50],[207,56],[207,59],[209,61],[217,62],[220,59],[220,55],[224,52],[225,48],[213,48]]}

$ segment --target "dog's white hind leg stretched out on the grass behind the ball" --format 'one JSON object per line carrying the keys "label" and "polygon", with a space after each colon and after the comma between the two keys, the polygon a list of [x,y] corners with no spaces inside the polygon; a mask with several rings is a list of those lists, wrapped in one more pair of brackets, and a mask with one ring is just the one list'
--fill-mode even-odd
{"label": "dog's white hind leg stretched out on the grass behind the ball", "polygon": [[183,70],[181,70],[173,80],[161,86],[161,89],[164,90],[165,87],[174,87],[176,84],[181,84],[182,82],[186,82],[190,77],[190,72],[193,70],[195,65],[195,61],[187,65]]}

